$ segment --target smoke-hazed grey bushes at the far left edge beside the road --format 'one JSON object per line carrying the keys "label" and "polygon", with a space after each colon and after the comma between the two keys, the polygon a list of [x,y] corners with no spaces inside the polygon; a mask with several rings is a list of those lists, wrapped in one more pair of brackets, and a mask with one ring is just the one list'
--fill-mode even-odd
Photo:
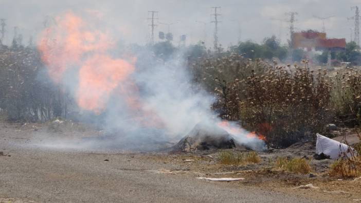
{"label": "smoke-hazed grey bushes at the far left edge beside the road", "polygon": [[65,94],[50,81],[35,47],[0,48],[0,113],[10,121],[47,121],[66,116]]}

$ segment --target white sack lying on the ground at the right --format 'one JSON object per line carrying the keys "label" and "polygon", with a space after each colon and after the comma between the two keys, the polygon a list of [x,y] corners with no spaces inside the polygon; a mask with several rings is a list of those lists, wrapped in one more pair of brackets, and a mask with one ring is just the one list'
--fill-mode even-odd
{"label": "white sack lying on the ground at the right", "polygon": [[[347,144],[324,137],[318,133],[316,135],[316,153],[318,155],[323,153],[327,156],[330,156],[331,159],[338,159],[340,156],[343,156],[346,152],[348,152],[349,149],[354,152],[354,149],[349,147]],[[351,153],[348,152],[347,156],[351,157]]]}

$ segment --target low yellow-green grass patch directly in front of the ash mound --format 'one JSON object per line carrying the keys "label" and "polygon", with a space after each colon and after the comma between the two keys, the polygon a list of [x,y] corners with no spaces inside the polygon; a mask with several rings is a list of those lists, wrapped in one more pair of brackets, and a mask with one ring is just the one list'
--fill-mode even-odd
{"label": "low yellow-green grass patch directly in front of the ash mound", "polygon": [[256,152],[235,154],[232,151],[224,151],[219,155],[219,161],[227,165],[241,165],[248,163],[259,163],[261,158]]}

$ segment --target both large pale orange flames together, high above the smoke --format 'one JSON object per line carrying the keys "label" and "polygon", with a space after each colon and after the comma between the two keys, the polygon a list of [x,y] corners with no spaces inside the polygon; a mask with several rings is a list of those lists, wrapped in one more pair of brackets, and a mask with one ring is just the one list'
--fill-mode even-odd
{"label": "both large pale orange flames together, high above the smoke", "polygon": [[[105,33],[91,29],[81,17],[67,12],[56,18],[56,25],[41,34],[39,50],[50,78],[60,83],[70,68],[79,68],[76,99],[79,107],[99,114],[112,92],[129,81],[135,60],[113,59],[106,51],[113,43]],[[128,98],[132,97],[131,95]]]}

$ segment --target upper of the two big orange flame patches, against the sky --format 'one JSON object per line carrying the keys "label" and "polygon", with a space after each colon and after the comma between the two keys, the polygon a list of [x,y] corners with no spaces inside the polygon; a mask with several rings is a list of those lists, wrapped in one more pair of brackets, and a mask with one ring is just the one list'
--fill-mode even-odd
{"label": "upper of the two big orange flame patches, against the sky", "polygon": [[38,48],[53,81],[59,83],[65,71],[79,65],[86,53],[105,51],[111,45],[105,34],[85,28],[79,16],[67,12],[41,33]]}

